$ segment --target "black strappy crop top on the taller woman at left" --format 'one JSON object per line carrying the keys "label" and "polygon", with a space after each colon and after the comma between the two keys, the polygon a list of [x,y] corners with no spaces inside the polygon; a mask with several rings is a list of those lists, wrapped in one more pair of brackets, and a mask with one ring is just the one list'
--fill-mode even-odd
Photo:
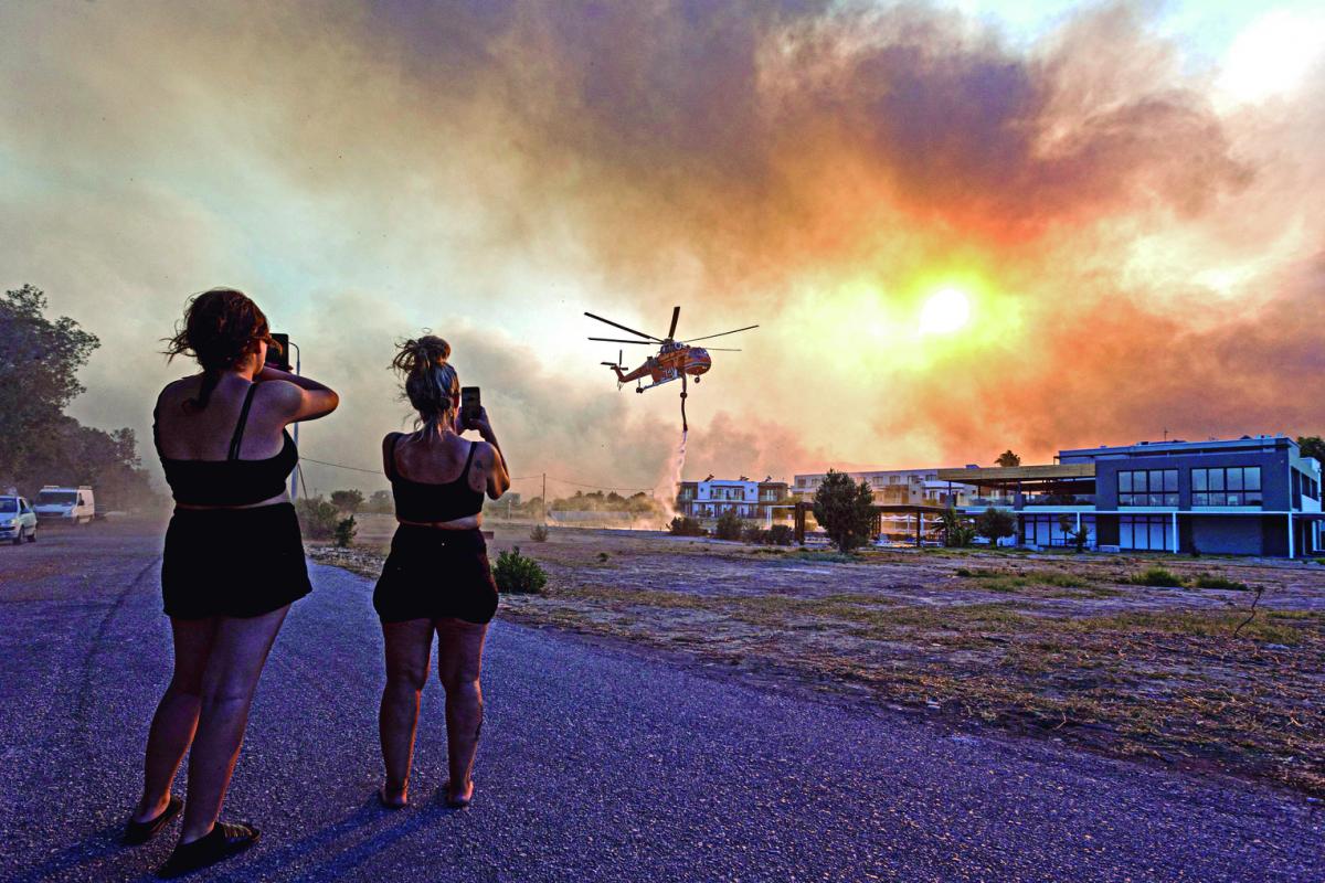
{"label": "black strappy crop top on the taller woman at left", "polygon": [[240,409],[231,450],[225,459],[172,459],[162,454],[156,436],[156,414],[152,413],[152,441],[166,470],[166,483],[176,503],[186,506],[252,506],[285,492],[285,479],[299,462],[299,450],[290,433],[281,430],[285,445],[281,453],[266,459],[240,459],[240,442],[257,384],[249,387]]}

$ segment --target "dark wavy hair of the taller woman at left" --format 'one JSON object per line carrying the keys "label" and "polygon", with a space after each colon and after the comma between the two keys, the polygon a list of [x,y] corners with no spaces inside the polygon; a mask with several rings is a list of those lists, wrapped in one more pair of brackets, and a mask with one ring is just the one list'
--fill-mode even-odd
{"label": "dark wavy hair of the taller woman at left", "polygon": [[257,352],[258,343],[277,346],[266,316],[253,301],[236,289],[212,289],[188,299],[184,320],[175,326],[175,336],[166,338],[166,355],[197,359],[203,367],[203,385],[197,398],[184,402],[186,410],[201,410],[221,381],[221,372]]}

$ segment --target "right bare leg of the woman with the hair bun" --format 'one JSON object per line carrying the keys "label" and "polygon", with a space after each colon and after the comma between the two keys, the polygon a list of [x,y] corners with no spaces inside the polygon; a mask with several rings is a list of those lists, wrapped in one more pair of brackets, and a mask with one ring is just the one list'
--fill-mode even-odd
{"label": "right bare leg of the woman with the hair bun", "polygon": [[469,801],[474,784],[469,774],[484,725],[484,694],[478,673],[484,661],[486,625],[464,620],[437,620],[437,676],[447,690],[447,760],[450,801]]}

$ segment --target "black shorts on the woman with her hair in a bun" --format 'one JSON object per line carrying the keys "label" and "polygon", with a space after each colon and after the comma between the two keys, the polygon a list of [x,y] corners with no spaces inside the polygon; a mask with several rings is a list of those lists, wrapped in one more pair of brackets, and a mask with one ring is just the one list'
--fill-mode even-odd
{"label": "black shorts on the woman with her hair in a bun", "polygon": [[497,584],[482,531],[399,526],[372,592],[372,606],[383,622],[448,617],[492,622]]}

